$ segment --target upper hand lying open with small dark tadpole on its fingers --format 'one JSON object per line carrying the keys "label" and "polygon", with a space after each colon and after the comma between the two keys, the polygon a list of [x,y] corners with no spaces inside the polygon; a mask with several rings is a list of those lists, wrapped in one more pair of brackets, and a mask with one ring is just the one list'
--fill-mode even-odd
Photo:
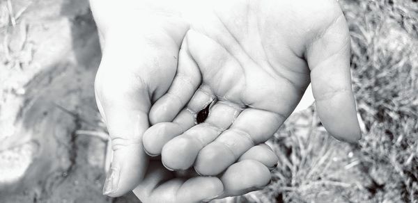
{"label": "upper hand lying open with small dark tadpole on its fingers", "polygon": [[[171,170],[194,165],[200,174],[219,174],[272,137],[310,81],[327,131],[360,138],[350,36],[336,1],[222,1],[198,11],[176,77],[151,108],[149,154],[162,154]],[[214,99],[206,121],[195,125]]]}

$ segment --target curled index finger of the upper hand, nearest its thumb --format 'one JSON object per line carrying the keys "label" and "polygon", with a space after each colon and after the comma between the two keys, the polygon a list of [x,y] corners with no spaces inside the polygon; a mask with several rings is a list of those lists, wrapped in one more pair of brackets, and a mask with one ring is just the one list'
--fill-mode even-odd
{"label": "curled index finger of the upper hand, nearest its thumb", "polygon": [[219,174],[248,149],[271,138],[283,122],[284,117],[277,113],[245,109],[227,131],[201,149],[194,163],[196,172],[203,175]]}

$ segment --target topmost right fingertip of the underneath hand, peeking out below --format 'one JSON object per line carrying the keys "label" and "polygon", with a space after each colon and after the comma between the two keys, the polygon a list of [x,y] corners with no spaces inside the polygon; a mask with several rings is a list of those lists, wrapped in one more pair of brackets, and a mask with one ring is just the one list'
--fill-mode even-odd
{"label": "topmost right fingertip of the underneath hand, peeking out below", "polygon": [[242,154],[238,162],[243,160],[254,160],[263,163],[269,170],[274,170],[277,167],[279,158],[274,154],[272,148],[262,143],[248,149],[247,152]]}

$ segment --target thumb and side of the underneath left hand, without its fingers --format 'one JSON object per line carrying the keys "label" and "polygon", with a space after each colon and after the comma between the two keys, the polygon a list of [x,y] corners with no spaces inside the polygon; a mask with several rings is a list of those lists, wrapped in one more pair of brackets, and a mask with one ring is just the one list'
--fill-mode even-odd
{"label": "thumb and side of the underneath left hand, without its fingers", "polygon": [[151,100],[167,92],[189,25],[162,3],[91,0],[91,8],[104,42],[95,94],[114,152],[103,193],[116,197],[144,179]]}

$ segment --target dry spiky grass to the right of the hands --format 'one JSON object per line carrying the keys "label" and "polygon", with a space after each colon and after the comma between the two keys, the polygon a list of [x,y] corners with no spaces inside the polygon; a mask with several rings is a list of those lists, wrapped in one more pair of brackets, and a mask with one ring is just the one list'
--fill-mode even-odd
{"label": "dry spiky grass to the right of the hands", "polygon": [[329,138],[313,108],[295,115],[272,140],[272,184],[233,202],[418,202],[418,3],[340,2],[363,139]]}

